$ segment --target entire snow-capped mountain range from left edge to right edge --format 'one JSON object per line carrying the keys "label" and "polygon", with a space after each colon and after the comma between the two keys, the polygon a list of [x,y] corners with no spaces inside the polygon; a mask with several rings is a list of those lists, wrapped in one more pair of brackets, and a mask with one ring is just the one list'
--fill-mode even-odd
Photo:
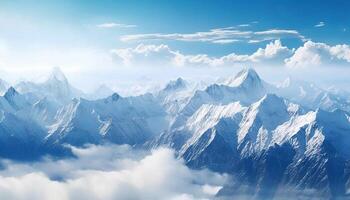
{"label": "entire snow-capped mountain range from left edge to right edge", "polygon": [[40,83],[0,81],[0,156],[70,156],[67,145],[166,146],[193,169],[232,175],[218,198],[348,197],[346,92],[291,78],[273,85],[251,68],[206,87],[178,78],[139,96],[99,90],[84,94],[59,68]]}

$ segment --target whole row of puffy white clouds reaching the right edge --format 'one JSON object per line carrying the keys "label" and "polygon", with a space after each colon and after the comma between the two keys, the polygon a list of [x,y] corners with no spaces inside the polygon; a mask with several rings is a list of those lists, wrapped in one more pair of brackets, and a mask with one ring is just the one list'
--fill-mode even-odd
{"label": "whole row of puffy white clouds reaching the right edge", "polygon": [[124,65],[137,66],[234,66],[234,65],[278,65],[291,68],[333,66],[350,63],[350,46],[307,41],[297,49],[283,46],[274,40],[252,54],[231,53],[221,57],[207,54],[183,54],[168,45],[139,44],[135,48],[114,49],[115,58]]}

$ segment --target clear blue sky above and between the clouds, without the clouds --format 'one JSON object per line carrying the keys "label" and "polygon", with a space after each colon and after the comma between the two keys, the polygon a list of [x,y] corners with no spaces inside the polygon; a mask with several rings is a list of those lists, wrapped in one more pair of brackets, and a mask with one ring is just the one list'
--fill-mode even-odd
{"label": "clear blue sky above and between the clouds, without the clouds", "polygon": [[[1,12],[28,18],[47,32],[84,32],[84,37],[98,38],[97,45],[121,45],[116,38],[130,33],[192,33],[213,28],[252,24],[245,30],[291,29],[314,41],[328,44],[344,43],[350,29],[349,1],[92,1],[39,0],[2,1]],[[319,22],[324,27],[314,27]],[[98,23],[134,24],[133,30],[98,31],[89,29]],[[21,26],[21,25],[19,25]],[[244,30],[244,28],[242,27]],[[344,31],[345,29],[345,31]],[[33,33],[32,36],[35,36]],[[113,37],[114,36],[114,37]],[[297,47],[298,41],[286,41]],[[174,43],[175,47],[193,53],[252,52],[256,45],[208,45]],[[191,46],[191,50],[186,48]],[[205,47],[205,51],[203,49]],[[212,51],[211,51],[212,50]]]}

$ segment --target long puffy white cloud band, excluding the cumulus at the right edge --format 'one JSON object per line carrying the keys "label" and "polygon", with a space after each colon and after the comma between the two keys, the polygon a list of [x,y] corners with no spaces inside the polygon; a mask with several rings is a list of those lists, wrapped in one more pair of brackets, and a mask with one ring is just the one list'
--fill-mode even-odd
{"label": "long puffy white cloud band, excluding the cumulus at the right edge", "polygon": [[275,40],[259,48],[251,55],[238,55],[231,53],[222,57],[212,57],[207,54],[186,55],[172,50],[169,46],[144,45],[136,48],[115,49],[112,53],[125,65],[175,65],[175,66],[225,66],[235,63],[260,63],[283,61],[292,55],[293,50]]}

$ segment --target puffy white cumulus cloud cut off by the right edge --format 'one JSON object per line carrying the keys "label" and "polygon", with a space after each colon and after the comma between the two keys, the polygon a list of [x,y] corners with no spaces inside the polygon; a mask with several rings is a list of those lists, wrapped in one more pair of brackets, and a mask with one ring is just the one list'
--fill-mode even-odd
{"label": "puffy white cumulus cloud cut off by the right edge", "polygon": [[330,46],[325,43],[308,41],[299,47],[294,55],[285,60],[289,67],[334,65],[350,62],[350,46]]}

